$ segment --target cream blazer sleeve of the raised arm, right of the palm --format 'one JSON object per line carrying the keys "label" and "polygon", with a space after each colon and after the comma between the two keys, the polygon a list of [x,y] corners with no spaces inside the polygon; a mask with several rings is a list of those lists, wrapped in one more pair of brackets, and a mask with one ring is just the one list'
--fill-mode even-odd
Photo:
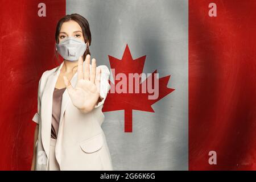
{"label": "cream blazer sleeve of the raised arm, right of the palm", "polygon": [[100,107],[101,105],[104,104],[106,100],[106,96],[110,90],[110,85],[109,85],[109,68],[106,67],[106,65],[100,65],[98,66],[101,68],[101,81],[100,81],[100,96],[103,98],[101,102],[98,102],[98,104],[94,107]]}

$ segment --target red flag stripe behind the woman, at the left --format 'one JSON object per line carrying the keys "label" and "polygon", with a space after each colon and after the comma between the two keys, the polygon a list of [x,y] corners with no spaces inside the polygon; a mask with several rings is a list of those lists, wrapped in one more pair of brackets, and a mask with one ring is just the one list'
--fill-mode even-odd
{"label": "red flag stripe behind the woman, at the left", "polygon": [[38,81],[56,66],[55,27],[65,15],[65,0],[1,1],[0,170],[30,169],[37,110]]}

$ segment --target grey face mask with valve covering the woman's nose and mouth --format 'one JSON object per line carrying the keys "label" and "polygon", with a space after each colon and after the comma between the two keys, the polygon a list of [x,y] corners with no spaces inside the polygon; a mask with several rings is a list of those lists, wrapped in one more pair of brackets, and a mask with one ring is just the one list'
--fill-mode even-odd
{"label": "grey face mask with valve covering the woman's nose and mouth", "polygon": [[55,43],[55,47],[59,54],[69,61],[79,60],[79,57],[84,55],[86,50],[85,42],[73,37],[66,38],[59,44]]}

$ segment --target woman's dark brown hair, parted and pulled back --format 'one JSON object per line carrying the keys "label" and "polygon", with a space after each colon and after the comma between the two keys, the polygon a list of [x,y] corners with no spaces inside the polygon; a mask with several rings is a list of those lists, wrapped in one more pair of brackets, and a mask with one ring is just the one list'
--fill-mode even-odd
{"label": "woman's dark brown hair, parted and pulled back", "polygon": [[[63,18],[61,18],[59,20],[59,22],[57,23],[57,26],[56,26],[56,31],[55,31],[55,41],[56,41],[56,43],[59,44],[59,34],[60,34],[60,29],[61,29],[62,24],[64,22],[68,22],[69,20],[74,20],[75,22],[77,22],[80,25],[80,27],[82,28],[82,36],[84,37],[84,42],[85,43],[89,42],[89,46],[90,46],[90,43],[92,42],[92,36],[90,35],[90,26],[89,26],[88,20],[86,20],[84,18],[84,16],[82,16],[80,14],[77,14],[77,13],[73,13],[73,14],[70,14],[70,15],[65,15]],[[84,55],[83,55],[84,60],[83,61],[85,61],[85,57],[88,54],[90,55],[89,47],[87,47],[85,52],[84,52]],[[55,56],[56,56],[56,59],[60,63],[59,55],[57,53],[57,50],[55,50]],[[59,67],[56,69],[56,71],[58,69],[59,69]]]}

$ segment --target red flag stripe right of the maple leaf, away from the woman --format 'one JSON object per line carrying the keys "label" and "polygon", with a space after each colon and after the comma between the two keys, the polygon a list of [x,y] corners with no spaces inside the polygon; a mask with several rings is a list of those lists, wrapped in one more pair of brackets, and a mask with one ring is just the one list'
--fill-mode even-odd
{"label": "red flag stripe right of the maple leaf, away from the woman", "polygon": [[255,19],[254,0],[189,1],[190,170],[256,169]]}

